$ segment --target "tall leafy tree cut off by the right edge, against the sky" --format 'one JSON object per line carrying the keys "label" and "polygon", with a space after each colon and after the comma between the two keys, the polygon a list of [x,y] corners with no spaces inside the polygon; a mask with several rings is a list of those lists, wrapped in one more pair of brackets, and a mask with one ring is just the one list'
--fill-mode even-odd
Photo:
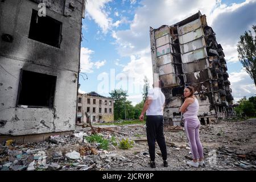
{"label": "tall leafy tree cut off by the right edge, against the sky", "polygon": [[[256,26],[253,26],[253,30],[256,34]],[[256,86],[256,35],[253,37],[250,30],[249,33],[245,31],[245,34],[240,36],[237,51],[238,59]]]}

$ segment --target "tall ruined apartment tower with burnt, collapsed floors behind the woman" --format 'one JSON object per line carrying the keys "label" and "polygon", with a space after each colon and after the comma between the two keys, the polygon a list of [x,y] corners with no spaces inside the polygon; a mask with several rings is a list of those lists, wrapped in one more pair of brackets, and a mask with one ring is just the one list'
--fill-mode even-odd
{"label": "tall ruined apartment tower with burnt, collapsed floors behind the woman", "polygon": [[[150,27],[153,74],[164,82],[164,122],[180,125],[183,90],[191,85],[199,100],[203,124],[233,113],[233,96],[221,44],[200,11],[172,26]],[[154,78],[155,79],[155,78]]]}

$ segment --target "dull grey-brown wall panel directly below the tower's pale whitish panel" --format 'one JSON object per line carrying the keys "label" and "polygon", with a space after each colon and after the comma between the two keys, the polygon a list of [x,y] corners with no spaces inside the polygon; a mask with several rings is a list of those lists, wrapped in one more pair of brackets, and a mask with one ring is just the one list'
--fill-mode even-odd
{"label": "dull grey-brown wall panel directly below the tower's pale whitish panel", "polygon": [[183,64],[183,73],[191,73],[207,69],[206,61],[206,59],[201,59],[192,63]]}

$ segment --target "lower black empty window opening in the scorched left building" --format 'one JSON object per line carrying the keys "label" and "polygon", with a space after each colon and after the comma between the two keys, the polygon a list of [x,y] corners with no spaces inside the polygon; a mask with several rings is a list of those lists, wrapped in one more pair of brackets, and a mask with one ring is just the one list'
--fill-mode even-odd
{"label": "lower black empty window opening in the scorched left building", "polygon": [[16,106],[53,107],[56,76],[21,70]]}

